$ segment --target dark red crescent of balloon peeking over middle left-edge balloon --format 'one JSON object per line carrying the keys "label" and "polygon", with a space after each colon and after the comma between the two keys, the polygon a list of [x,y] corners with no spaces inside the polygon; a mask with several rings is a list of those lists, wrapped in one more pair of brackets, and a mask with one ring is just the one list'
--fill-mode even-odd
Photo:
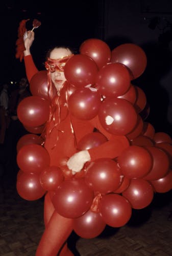
{"label": "dark red crescent of balloon peeking over middle left-edge balloon", "polygon": [[43,142],[43,139],[36,135],[36,134],[26,134],[23,135],[17,142],[17,152],[20,150],[20,148],[24,145],[28,144],[41,144]]}

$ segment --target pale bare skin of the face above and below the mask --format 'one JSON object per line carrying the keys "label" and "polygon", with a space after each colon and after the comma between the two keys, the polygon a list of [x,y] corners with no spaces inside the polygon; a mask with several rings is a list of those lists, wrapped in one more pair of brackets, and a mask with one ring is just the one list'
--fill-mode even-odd
{"label": "pale bare skin of the face above and below the mask", "polygon": [[[55,48],[51,51],[50,58],[51,59],[60,59],[65,56],[68,56],[70,54],[72,54],[72,53],[68,48]],[[55,70],[54,72],[51,72],[51,78],[52,78],[52,81],[53,81],[57,91],[60,90],[64,81],[66,80],[66,78],[64,76],[64,72],[60,71],[60,70]]]}

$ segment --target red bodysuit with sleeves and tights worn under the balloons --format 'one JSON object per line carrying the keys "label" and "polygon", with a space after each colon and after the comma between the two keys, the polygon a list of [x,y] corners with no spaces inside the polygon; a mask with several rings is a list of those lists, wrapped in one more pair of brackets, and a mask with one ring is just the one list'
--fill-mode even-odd
{"label": "red bodysuit with sleeves and tights worn under the balloons", "polygon": [[[34,65],[31,55],[24,57],[24,63],[27,77],[30,81],[38,70]],[[64,88],[61,90],[60,95],[61,121],[58,127],[54,127],[53,121],[50,123],[49,132],[47,132],[48,134],[46,135],[44,144],[44,147],[50,155],[50,165],[59,166],[61,160],[75,154],[77,152],[76,142],[86,134],[93,132],[94,128],[104,134],[108,141],[88,150],[91,161],[102,157],[114,159],[119,156],[121,152],[129,146],[129,141],[126,136],[115,136],[105,131],[97,116],[91,120],[81,120],[70,115],[67,104],[65,104],[64,90]],[[57,113],[55,112],[55,117],[56,116]],[[71,124],[74,134],[72,133]],[[50,130],[51,127],[54,128]],[[45,231],[39,243],[36,256],[55,256],[61,248],[60,254],[58,255],[72,255],[72,253],[67,250],[65,244],[66,239],[73,229],[72,219],[64,218],[55,211],[48,194],[49,193],[45,195],[44,203]]]}

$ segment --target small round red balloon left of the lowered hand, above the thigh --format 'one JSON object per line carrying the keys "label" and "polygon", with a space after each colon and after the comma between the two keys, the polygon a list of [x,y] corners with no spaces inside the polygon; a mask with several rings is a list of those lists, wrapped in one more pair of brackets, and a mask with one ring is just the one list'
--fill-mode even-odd
{"label": "small round red balloon left of the lowered hand, above the thigh", "polygon": [[63,172],[56,166],[48,166],[40,174],[40,183],[45,190],[56,190],[63,180]]}

